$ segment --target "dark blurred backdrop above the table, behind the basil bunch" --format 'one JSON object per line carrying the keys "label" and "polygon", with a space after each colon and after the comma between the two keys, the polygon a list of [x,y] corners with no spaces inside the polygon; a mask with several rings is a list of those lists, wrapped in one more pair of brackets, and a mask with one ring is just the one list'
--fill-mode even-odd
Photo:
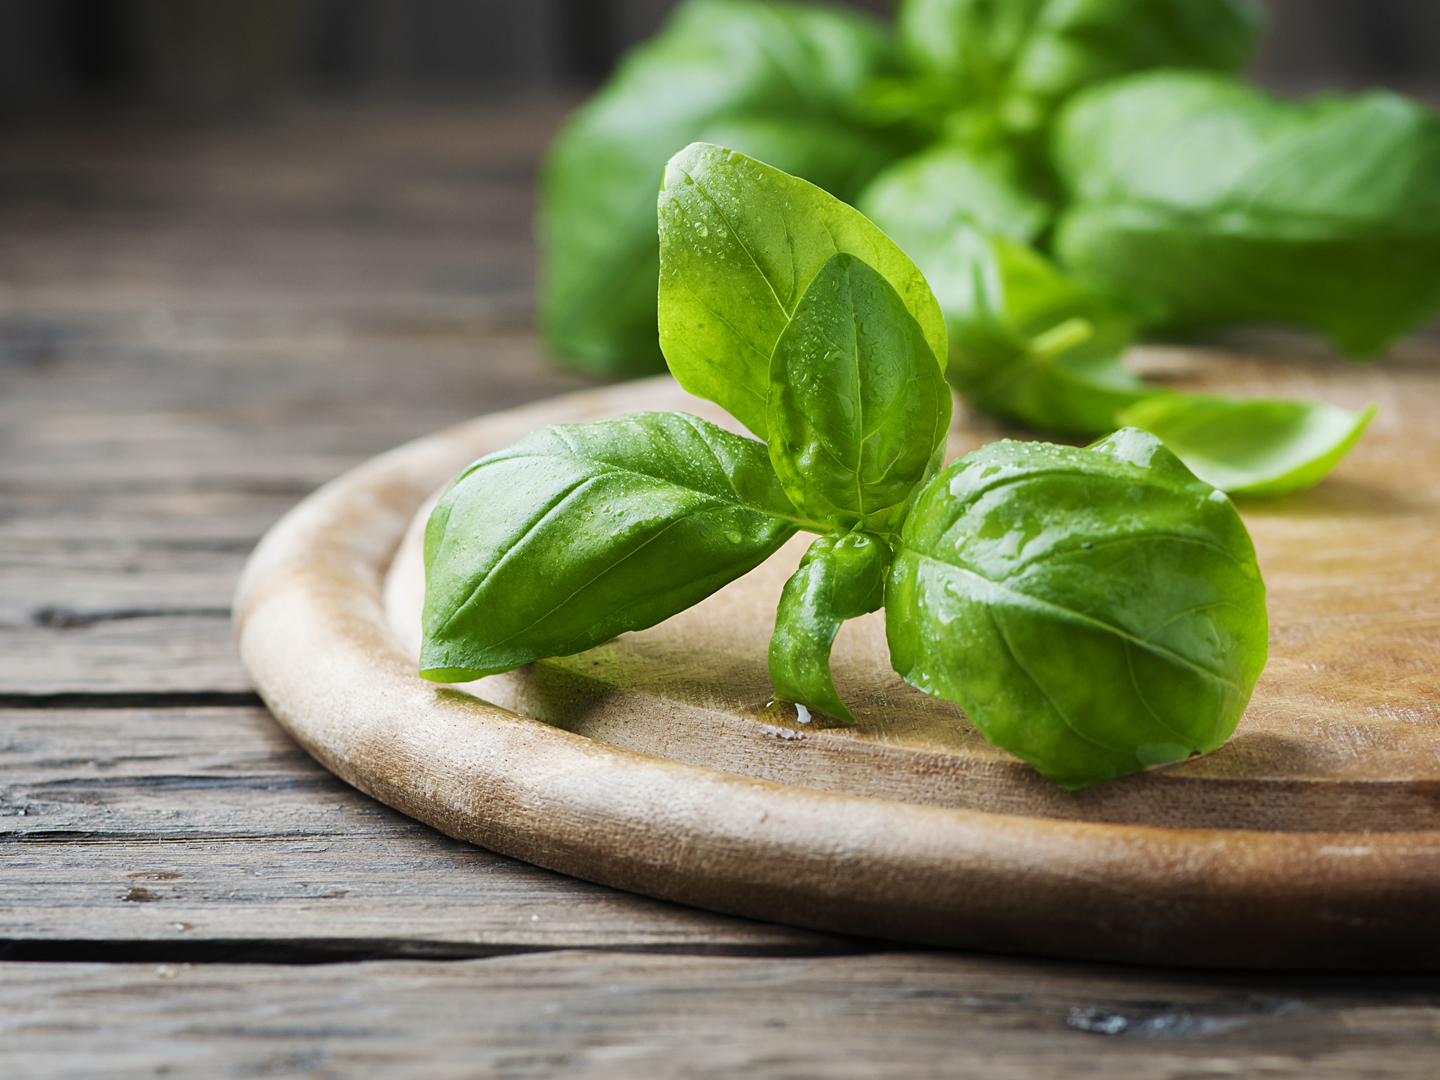
{"label": "dark blurred backdrop above the table, behind the basil bunch", "polygon": [[[854,6],[880,14],[887,0]],[[596,84],[672,0],[0,0],[0,109],[170,109]],[[1440,84],[1436,0],[1269,0],[1282,91]]]}

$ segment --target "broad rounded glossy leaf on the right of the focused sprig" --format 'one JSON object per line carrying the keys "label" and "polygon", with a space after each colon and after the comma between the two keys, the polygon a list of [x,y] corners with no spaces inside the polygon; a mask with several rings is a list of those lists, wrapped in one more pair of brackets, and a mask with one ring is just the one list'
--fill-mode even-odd
{"label": "broad rounded glossy leaf on the right of the focused sprig", "polygon": [[1267,648],[1240,516],[1133,428],[940,472],[906,520],[886,631],[907,683],[1064,788],[1220,746]]}

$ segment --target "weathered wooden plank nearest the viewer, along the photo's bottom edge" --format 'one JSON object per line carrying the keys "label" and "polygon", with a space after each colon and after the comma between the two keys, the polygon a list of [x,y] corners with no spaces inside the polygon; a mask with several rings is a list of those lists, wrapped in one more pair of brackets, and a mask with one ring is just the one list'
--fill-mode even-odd
{"label": "weathered wooden plank nearest the viewer, along the photo's bottom edge", "polygon": [[0,965],[10,1077],[1431,1077],[1375,991],[984,956]]}

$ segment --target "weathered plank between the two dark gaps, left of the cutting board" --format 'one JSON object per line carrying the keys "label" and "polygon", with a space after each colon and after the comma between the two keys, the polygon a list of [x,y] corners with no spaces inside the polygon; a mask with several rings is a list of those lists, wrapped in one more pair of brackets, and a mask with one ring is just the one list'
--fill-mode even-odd
{"label": "weathered plank between the two dark gaps, left of the cutting board", "polygon": [[337,780],[261,708],[0,710],[0,942],[12,952],[151,942],[207,955],[215,942],[361,939],[380,952],[461,953],[851,948],[449,840]]}

